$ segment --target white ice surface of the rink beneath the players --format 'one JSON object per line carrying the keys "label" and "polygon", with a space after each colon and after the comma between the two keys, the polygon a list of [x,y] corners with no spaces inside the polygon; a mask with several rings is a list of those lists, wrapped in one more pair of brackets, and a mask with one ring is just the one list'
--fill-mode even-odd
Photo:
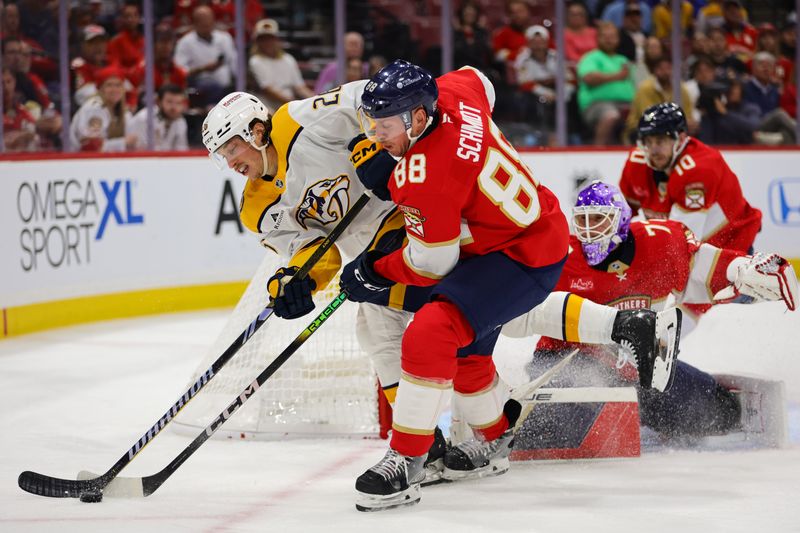
{"label": "white ice surface of the rink beneath the players", "polygon": [[[209,441],[154,495],[100,504],[30,495],[23,470],[105,471],[185,390],[228,312],[113,321],[0,342],[0,531],[787,532],[800,531],[800,313],[720,306],[683,343],[705,370],[786,382],[791,445],[673,450],[636,459],[514,464],[501,477],[423,490],[414,507],[363,514],[356,476],[379,440]],[[530,342],[504,340],[509,382]],[[189,443],[165,431],[125,470],[160,470]]]}

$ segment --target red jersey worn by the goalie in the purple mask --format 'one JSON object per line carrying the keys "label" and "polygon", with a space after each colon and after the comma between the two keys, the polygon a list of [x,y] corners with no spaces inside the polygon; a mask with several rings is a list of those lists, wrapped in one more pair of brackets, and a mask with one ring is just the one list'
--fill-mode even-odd
{"label": "red jersey worn by the goalie in the purple mask", "polygon": [[[670,293],[678,303],[712,303],[714,294],[730,285],[728,264],[744,255],[699,243],[674,220],[634,221],[630,233],[633,244],[626,242],[620,253],[601,263],[605,270],[589,266],[577,237],[570,236],[570,254],[554,290],[621,310],[659,310]],[[537,348],[565,346],[543,337]]]}

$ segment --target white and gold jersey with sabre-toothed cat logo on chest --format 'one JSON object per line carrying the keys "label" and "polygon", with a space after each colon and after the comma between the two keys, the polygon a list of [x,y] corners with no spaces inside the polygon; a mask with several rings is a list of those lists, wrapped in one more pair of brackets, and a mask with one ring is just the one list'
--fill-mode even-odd
{"label": "white and gold jersey with sabre-toothed cat logo on chest", "polygon": [[[275,176],[248,180],[242,223],[264,246],[301,265],[365,189],[350,162],[348,143],[361,133],[356,110],[367,80],[289,102],[272,116],[270,139],[278,153]],[[345,260],[369,244],[393,204],[373,198],[336,241]],[[321,288],[341,265],[333,250],[311,275]]]}

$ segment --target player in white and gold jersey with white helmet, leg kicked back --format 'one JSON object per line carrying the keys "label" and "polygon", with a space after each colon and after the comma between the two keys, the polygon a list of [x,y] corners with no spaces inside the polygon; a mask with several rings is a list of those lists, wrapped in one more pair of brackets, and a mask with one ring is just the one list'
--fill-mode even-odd
{"label": "player in white and gold jersey with white helmet, leg kicked back", "polygon": [[[402,214],[390,202],[373,198],[348,226],[328,253],[304,279],[293,274],[316,245],[336,226],[352,202],[363,192],[359,172],[370,169],[370,154],[379,150],[369,143],[351,143],[361,133],[357,118],[360,95],[367,80],[351,82],[324,94],[290,102],[270,115],[253,95],[232,93],[208,114],[203,142],[220,168],[229,167],[247,177],[240,206],[244,225],[261,243],[287,259],[270,278],[267,289],[274,312],[292,319],[309,313],[312,293],[322,290],[345,261],[367,247],[399,247],[404,237]],[[488,81],[487,81],[488,83]],[[348,145],[353,144],[354,153]],[[352,159],[352,161],[351,161]],[[415,308],[424,303],[426,290],[400,284],[384,291],[382,300],[359,304],[357,337],[373,360],[390,403],[400,380],[400,340]],[[583,342],[611,343],[617,310],[586,301],[570,310],[566,293],[555,293],[538,313],[541,331],[535,333]],[[572,301],[572,300],[571,300]],[[654,320],[631,315],[624,335],[638,347],[639,359],[648,365],[658,355]],[[570,327],[562,327],[570,320]],[[619,329],[619,328],[617,328]],[[531,332],[533,334],[533,332]],[[663,350],[662,350],[663,351]],[[443,444],[441,440],[434,446]],[[443,455],[444,450],[440,450]],[[437,452],[438,453],[438,452]],[[429,461],[435,459],[429,455]]]}

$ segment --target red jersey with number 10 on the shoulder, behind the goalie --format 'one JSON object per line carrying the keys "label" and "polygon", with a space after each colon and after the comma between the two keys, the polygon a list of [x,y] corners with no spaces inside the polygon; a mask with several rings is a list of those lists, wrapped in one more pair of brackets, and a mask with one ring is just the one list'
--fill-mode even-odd
{"label": "red jersey with number 10 on the shoulder, behind the goalie", "polygon": [[703,242],[746,252],[761,229],[761,211],[747,203],[739,179],[718,150],[690,138],[669,179],[657,183],[644,152],[631,150],[619,184],[647,218],[683,222]]}

